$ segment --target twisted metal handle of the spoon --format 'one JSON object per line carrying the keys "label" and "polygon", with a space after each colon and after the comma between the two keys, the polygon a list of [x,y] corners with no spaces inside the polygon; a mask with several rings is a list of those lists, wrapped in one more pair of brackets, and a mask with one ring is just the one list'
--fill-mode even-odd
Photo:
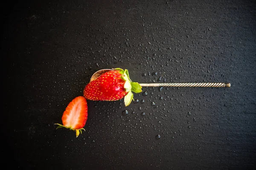
{"label": "twisted metal handle of the spoon", "polygon": [[211,87],[224,88],[230,87],[230,83],[223,82],[202,82],[202,83],[140,83],[141,86],[149,87]]}

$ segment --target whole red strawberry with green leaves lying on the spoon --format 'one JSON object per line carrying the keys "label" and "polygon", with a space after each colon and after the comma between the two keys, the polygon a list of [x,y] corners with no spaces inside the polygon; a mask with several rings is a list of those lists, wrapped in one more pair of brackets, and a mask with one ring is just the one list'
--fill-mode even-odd
{"label": "whole red strawberry with green leaves lying on the spoon", "polygon": [[114,68],[108,71],[84,88],[84,97],[89,100],[115,101],[125,98],[125,106],[133,100],[132,91],[141,92],[141,86],[137,82],[131,82],[128,70]]}

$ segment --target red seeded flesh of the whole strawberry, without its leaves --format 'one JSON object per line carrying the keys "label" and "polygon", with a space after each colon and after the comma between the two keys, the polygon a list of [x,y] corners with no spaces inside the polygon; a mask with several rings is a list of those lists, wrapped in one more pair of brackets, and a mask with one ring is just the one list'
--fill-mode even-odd
{"label": "red seeded flesh of the whole strawberry, without its leaves", "polygon": [[115,101],[122,99],[128,91],[125,90],[125,80],[117,71],[108,71],[88,83],[84,88],[84,97],[89,100]]}

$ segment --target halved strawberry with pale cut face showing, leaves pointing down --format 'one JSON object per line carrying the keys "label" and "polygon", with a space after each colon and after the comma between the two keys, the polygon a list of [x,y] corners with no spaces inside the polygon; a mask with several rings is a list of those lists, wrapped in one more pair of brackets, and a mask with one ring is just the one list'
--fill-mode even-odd
{"label": "halved strawberry with pale cut face showing, leaves pointing down", "polygon": [[75,130],[76,137],[78,137],[82,133],[82,130],[84,130],[83,127],[86,123],[87,116],[87,101],[83,96],[78,96],[67,105],[61,118],[63,125],[58,123],[55,125],[58,125],[57,129],[66,127],[67,129]]}

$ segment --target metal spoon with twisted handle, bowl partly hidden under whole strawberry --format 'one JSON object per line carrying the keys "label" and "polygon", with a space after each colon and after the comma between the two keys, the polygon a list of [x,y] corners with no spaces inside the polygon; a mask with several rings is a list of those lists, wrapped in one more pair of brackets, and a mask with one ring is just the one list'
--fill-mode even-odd
{"label": "metal spoon with twisted handle, bowl partly hidden under whole strawberry", "polygon": [[[90,79],[90,82],[97,79],[103,73],[113,71],[112,69],[102,69],[96,71]],[[150,87],[211,87],[211,88],[224,88],[230,87],[230,83],[223,82],[202,82],[202,83],[140,83],[141,86]]]}

